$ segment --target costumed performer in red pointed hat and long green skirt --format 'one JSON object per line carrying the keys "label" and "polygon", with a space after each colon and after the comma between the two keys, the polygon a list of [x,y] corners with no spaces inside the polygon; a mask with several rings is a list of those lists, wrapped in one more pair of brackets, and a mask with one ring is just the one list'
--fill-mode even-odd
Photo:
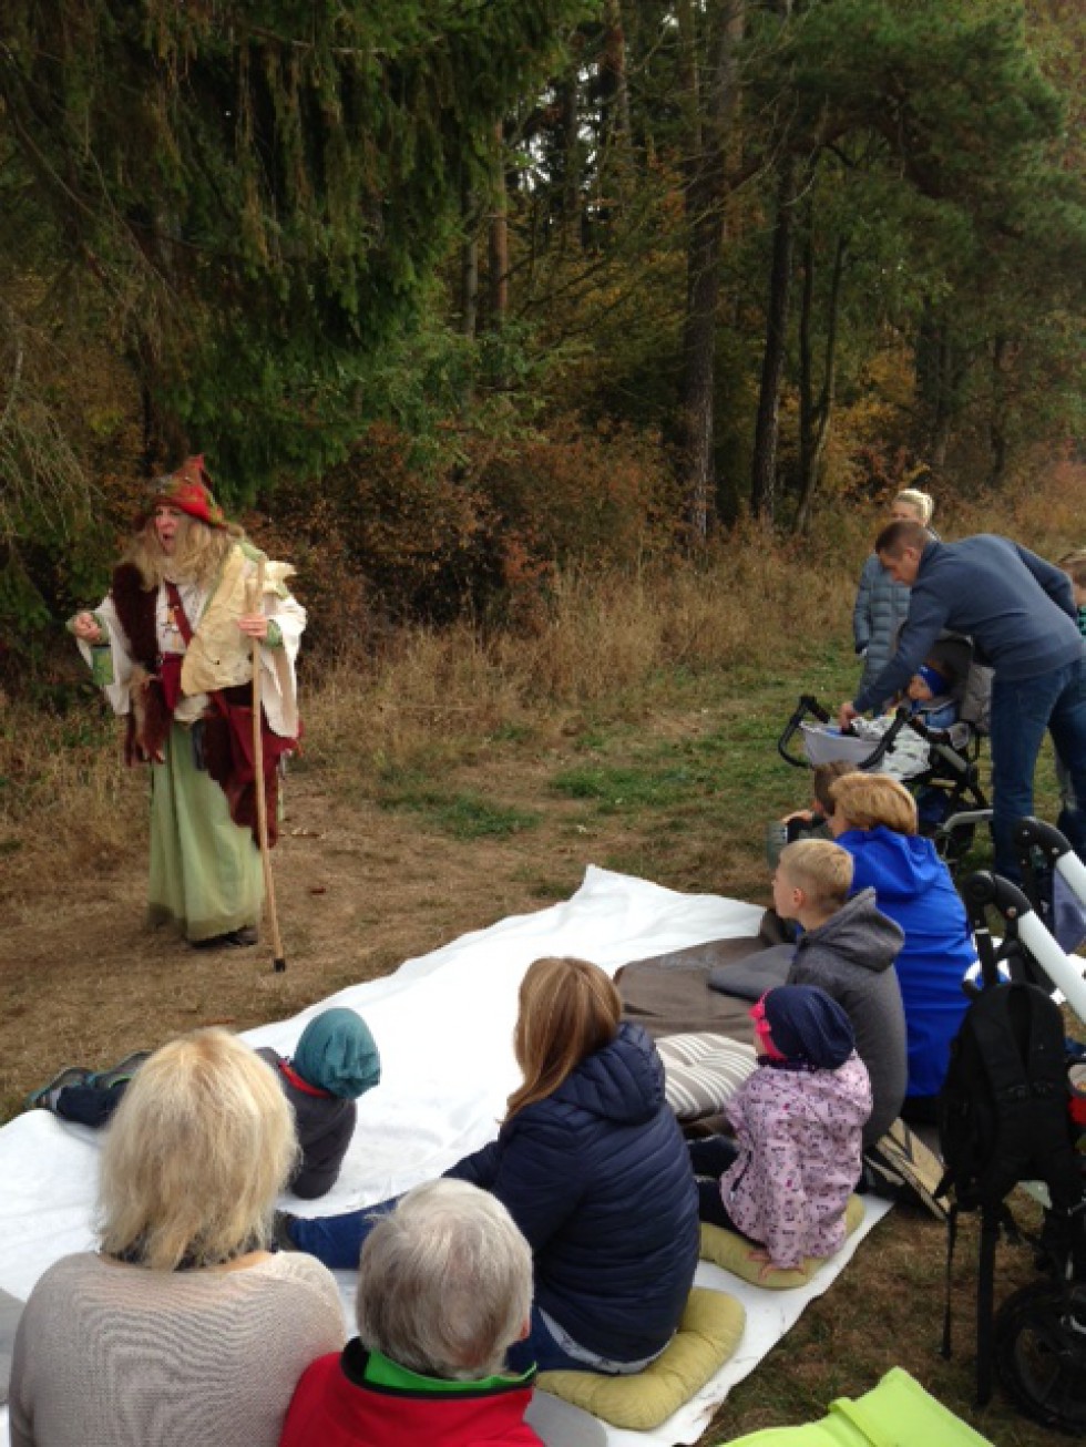
{"label": "costumed performer in red pointed hat and long green skirt", "polygon": [[151,765],[151,923],[175,923],[197,946],[256,942],[252,657],[258,644],[274,844],[277,765],[298,737],[306,609],[287,590],[292,572],[226,521],[203,457],[190,457],[155,482],[109,596],[70,624],[94,682],[127,718],[127,763]]}

